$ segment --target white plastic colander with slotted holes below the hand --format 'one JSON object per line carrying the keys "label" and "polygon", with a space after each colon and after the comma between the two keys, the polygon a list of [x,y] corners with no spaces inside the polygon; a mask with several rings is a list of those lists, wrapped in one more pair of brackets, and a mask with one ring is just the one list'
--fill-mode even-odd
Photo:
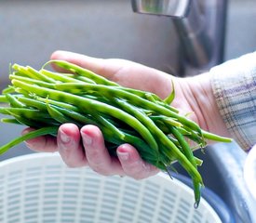
{"label": "white plastic colander with slotted holes below the hand", "polygon": [[3,223],[218,223],[204,199],[164,174],[143,180],[68,168],[58,154],[34,153],[0,163]]}

